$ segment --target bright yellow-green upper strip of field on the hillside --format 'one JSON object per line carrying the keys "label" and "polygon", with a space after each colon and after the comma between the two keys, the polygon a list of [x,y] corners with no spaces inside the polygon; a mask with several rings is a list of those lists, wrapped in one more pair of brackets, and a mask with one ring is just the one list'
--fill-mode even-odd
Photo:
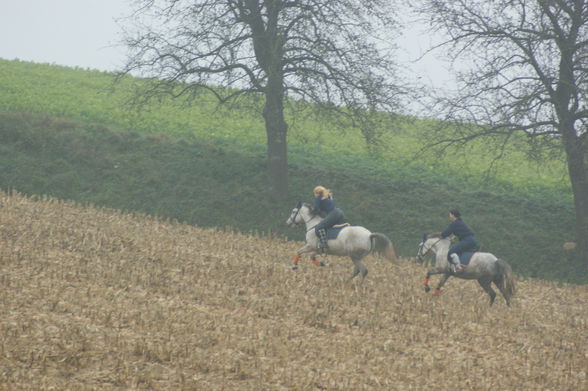
{"label": "bright yellow-green upper strip of field on the hillside", "polygon": [[[0,60],[0,110],[79,119],[144,134],[165,133],[243,146],[266,143],[260,108],[251,101],[219,110],[212,96],[202,95],[196,101],[163,99],[137,111],[128,106],[128,101],[140,83],[141,80],[125,78],[114,84],[114,75],[107,72]],[[422,153],[426,132],[435,126],[429,120],[398,116],[382,134],[376,149],[366,147],[357,129],[332,129],[328,122],[312,120],[304,111],[289,111],[287,120],[291,150],[299,147],[352,155],[355,159],[379,160],[381,166],[390,162],[416,163],[426,169],[441,170],[443,175],[456,172],[475,185],[488,182],[486,172],[494,164],[486,142],[472,144],[465,153],[442,159]],[[337,167],[340,162],[324,164]],[[561,161],[528,162],[525,149],[516,145],[496,164],[497,172],[490,178],[495,185],[555,192],[558,198],[570,196]]]}

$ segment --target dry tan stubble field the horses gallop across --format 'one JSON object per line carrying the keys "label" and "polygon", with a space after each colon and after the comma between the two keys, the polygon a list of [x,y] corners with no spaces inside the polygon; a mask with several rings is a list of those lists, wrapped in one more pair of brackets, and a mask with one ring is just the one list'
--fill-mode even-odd
{"label": "dry tan stubble field the horses gallop across", "polygon": [[0,193],[0,389],[588,389],[586,286],[489,307],[408,258],[293,271],[300,245]]}

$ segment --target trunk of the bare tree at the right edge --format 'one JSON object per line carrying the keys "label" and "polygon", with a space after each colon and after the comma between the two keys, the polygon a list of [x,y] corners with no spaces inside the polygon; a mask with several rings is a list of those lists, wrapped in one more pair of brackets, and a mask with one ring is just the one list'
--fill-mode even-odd
{"label": "trunk of the bare tree at the right edge", "polygon": [[576,252],[588,267],[588,151],[577,137],[565,137],[568,171],[576,210]]}

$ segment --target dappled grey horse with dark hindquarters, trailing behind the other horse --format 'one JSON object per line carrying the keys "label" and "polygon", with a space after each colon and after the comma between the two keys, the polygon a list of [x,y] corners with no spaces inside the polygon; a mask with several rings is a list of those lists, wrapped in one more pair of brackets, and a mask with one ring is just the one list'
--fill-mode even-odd
{"label": "dappled grey horse with dark hindquarters, trailing behind the other horse", "polygon": [[430,251],[435,253],[435,266],[427,272],[425,277],[425,292],[430,290],[429,278],[433,274],[443,274],[434,295],[441,292],[441,288],[450,276],[455,276],[464,280],[478,280],[480,286],[490,296],[490,305],[494,303],[496,298],[496,292],[492,289],[492,283],[494,283],[504,296],[506,304],[510,306],[510,299],[515,293],[515,282],[510,265],[502,259],[496,258],[493,254],[476,252],[470,263],[464,266],[463,271],[456,274],[451,270],[447,260],[450,246],[449,238],[442,238],[440,234],[425,234],[423,241],[419,244],[417,259],[420,262]]}

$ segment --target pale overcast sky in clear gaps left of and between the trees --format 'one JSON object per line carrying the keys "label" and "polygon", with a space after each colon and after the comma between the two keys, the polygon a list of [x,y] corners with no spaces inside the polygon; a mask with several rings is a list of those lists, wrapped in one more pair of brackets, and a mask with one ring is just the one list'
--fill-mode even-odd
{"label": "pale overcast sky in clear gaps left of and between the trees", "polygon": [[[0,58],[114,71],[122,67],[116,19],[130,14],[129,0],[0,0]],[[397,61],[407,75],[438,88],[451,86],[448,65],[433,55],[414,62],[430,45],[413,26],[399,40]]]}

